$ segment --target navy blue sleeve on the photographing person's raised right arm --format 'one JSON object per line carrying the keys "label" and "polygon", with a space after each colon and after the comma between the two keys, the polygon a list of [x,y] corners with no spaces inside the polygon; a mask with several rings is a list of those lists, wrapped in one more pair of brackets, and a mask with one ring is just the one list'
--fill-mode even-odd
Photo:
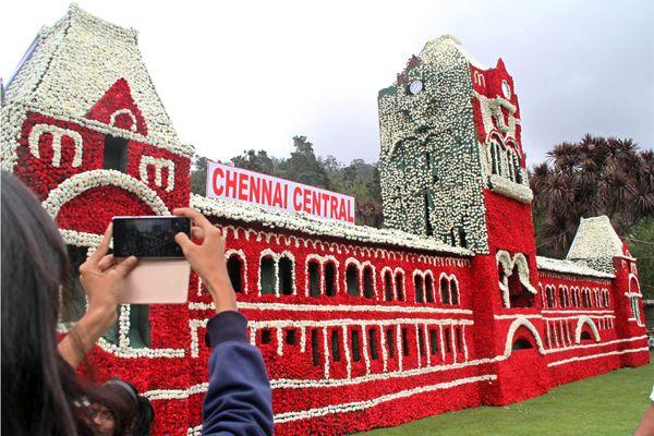
{"label": "navy blue sleeve on the photographing person's raised right arm", "polygon": [[203,435],[271,435],[272,399],[259,350],[247,341],[247,319],[226,311],[207,323],[209,387]]}

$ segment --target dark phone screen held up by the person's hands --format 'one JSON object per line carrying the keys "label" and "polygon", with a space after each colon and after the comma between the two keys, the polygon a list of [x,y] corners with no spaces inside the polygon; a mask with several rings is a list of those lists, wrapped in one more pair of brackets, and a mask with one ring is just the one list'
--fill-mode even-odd
{"label": "dark phone screen held up by the person's hands", "polygon": [[184,217],[113,217],[116,257],[183,257],[174,235],[191,237],[191,220]]}

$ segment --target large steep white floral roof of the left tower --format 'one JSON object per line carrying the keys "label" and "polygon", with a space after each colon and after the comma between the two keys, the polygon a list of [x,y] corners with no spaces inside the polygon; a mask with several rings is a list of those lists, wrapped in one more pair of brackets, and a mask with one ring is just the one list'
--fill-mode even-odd
{"label": "large steep white floral roof of the left tower", "polygon": [[88,119],[89,111],[120,80],[147,123],[143,134],[129,132],[133,138],[190,155],[192,148],[180,144],[143,63],[136,31],[102,21],[75,4],[55,25],[40,29],[8,84],[3,106],[97,123]]}

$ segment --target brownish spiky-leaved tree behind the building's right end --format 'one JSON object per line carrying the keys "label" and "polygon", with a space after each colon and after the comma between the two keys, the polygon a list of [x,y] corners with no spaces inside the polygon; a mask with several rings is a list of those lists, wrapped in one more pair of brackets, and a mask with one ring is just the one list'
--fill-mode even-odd
{"label": "brownish spiky-leaved tree behind the building's right end", "polygon": [[620,235],[654,215],[654,153],[632,140],[586,134],[555,145],[531,171],[541,254],[561,257],[581,217],[606,215]]}

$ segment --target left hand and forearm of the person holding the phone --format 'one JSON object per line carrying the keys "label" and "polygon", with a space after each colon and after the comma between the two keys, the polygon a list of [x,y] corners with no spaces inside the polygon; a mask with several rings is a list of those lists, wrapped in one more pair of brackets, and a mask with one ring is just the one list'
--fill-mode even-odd
{"label": "left hand and forearm of the person holding the phone", "polygon": [[136,266],[136,257],[117,261],[107,254],[111,241],[111,225],[102,242],[80,266],[80,282],[88,298],[88,310],[73,330],[59,342],[59,354],[77,367],[98,338],[116,323],[122,280]]}

